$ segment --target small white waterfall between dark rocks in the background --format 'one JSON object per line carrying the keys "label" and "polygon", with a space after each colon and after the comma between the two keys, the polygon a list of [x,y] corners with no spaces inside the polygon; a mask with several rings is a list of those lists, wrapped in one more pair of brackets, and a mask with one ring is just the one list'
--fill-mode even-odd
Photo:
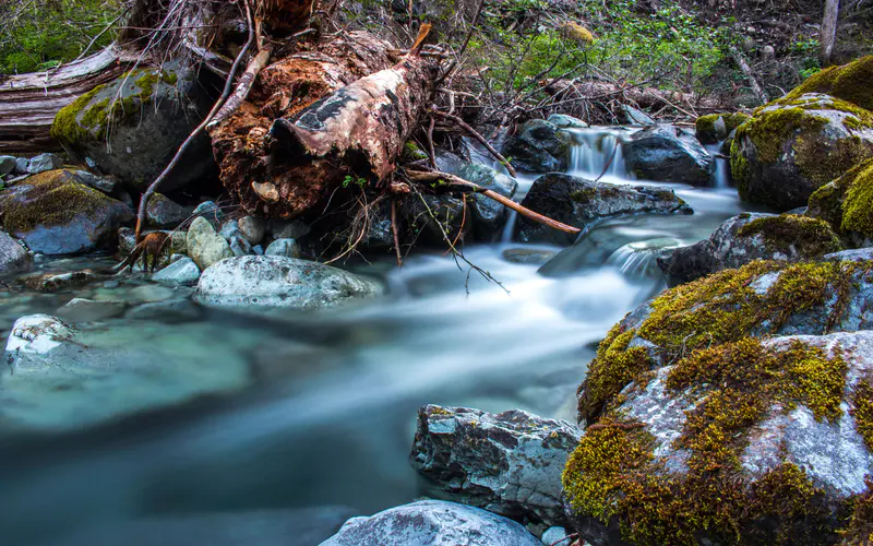
{"label": "small white waterfall between dark rocks in the background", "polygon": [[573,138],[570,151],[570,174],[596,179],[600,175],[612,180],[627,180],[630,175],[622,155],[622,144],[635,132],[633,129],[591,127],[570,129]]}

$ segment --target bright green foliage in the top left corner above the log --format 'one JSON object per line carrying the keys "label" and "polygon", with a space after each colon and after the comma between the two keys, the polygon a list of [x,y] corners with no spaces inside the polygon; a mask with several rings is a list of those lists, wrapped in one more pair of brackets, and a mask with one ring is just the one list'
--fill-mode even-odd
{"label": "bright green foliage in the top left corner above the log", "polygon": [[[120,12],[119,0],[36,0],[0,4],[0,74],[48,70],[69,62]],[[91,51],[108,46],[112,31]]]}

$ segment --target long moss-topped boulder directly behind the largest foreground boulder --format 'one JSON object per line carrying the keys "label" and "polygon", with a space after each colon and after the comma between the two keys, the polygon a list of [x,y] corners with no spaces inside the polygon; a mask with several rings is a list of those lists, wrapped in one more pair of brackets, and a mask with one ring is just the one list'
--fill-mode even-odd
{"label": "long moss-topped boulder directly behind the largest foreground boulder", "polygon": [[754,261],[666,290],[615,324],[579,389],[593,423],[639,372],[745,337],[873,329],[873,262]]}

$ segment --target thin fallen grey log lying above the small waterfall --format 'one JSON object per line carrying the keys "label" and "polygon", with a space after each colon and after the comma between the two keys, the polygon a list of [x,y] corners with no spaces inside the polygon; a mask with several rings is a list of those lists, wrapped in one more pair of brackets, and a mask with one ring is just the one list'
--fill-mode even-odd
{"label": "thin fallen grey log lying above the small waterfall", "polygon": [[611,99],[635,103],[643,108],[663,108],[665,106],[693,106],[695,108],[719,108],[718,100],[701,97],[695,93],[662,91],[655,87],[620,86],[608,82],[576,82],[558,80],[547,82],[546,93],[560,100],[589,100],[606,103]]}

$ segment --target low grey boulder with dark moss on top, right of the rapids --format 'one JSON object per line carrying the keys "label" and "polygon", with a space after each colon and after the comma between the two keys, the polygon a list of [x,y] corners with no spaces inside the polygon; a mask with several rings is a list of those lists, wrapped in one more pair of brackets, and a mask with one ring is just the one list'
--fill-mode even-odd
{"label": "low grey boulder with dark moss on top, right of the rapids", "polygon": [[798,262],[840,250],[842,242],[827,222],[793,214],[742,213],[725,221],[708,239],[666,251],[658,265],[677,285],[754,260]]}

